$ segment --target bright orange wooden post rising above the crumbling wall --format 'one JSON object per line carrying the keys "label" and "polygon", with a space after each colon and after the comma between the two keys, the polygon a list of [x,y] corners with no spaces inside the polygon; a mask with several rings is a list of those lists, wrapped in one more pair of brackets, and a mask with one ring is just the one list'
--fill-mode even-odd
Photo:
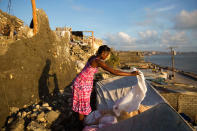
{"label": "bright orange wooden post rising above the crumbling wall", "polygon": [[33,12],[33,31],[34,35],[37,33],[38,25],[37,25],[37,15],[36,15],[36,2],[35,0],[31,0],[32,3],[32,12]]}

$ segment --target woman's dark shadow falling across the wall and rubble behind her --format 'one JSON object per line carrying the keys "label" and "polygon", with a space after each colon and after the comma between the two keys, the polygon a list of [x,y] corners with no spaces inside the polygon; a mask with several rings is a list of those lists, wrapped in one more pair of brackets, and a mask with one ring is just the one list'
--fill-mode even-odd
{"label": "woman's dark shadow falling across the wall and rubble behind her", "polygon": [[[47,59],[46,64],[43,68],[42,74],[39,79],[38,93],[40,98],[40,103],[47,102],[53,110],[58,110],[60,112],[59,117],[51,124],[50,128],[52,130],[82,130],[83,125],[79,121],[78,113],[72,111],[72,83],[64,88],[64,93],[60,93],[58,86],[58,78],[56,74],[49,74],[51,67],[51,60]],[[49,92],[49,78],[53,77],[54,89],[53,92]],[[69,95],[66,95],[69,94]],[[54,104],[56,102],[56,104]],[[65,124],[67,123],[67,124]]]}

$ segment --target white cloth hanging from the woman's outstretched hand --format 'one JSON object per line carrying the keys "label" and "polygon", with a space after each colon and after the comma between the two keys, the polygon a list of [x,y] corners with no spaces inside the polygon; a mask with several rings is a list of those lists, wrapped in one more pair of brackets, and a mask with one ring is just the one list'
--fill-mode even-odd
{"label": "white cloth hanging from the woman's outstretched hand", "polygon": [[[136,68],[133,69],[136,71]],[[132,86],[132,89],[127,93],[126,96],[115,102],[113,106],[114,113],[119,116],[121,111],[133,112],[139,109],[142,100],[145,97],[147,87],[143,73],[138,70],[137,84]]]}

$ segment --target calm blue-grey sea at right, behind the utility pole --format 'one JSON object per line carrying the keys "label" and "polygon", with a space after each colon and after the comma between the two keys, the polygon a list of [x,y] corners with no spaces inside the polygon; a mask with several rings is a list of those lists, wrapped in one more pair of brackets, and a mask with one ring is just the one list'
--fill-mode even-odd
{"label": "calm blue-grey sea at right, behind the utility pole", "polygon": [[[197,74],[197,53],[175,55],[175,68],[186,72]],[[145,61],[149,61],[161,66],[172,66],[171,55],[145,56]]]}

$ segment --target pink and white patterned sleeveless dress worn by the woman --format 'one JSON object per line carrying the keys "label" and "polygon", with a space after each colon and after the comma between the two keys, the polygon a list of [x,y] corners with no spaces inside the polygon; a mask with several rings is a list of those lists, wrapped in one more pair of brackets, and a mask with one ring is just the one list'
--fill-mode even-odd
{"label": "pink and white patterned sleeveless dress worn by the woman", "polygon": [[94,74],[97,68],[91,67],[87,62],[81,73],[73,82],[73,111],[79,114],[88,115],[92,109],[90,107],[90,95],[93,88]]}

